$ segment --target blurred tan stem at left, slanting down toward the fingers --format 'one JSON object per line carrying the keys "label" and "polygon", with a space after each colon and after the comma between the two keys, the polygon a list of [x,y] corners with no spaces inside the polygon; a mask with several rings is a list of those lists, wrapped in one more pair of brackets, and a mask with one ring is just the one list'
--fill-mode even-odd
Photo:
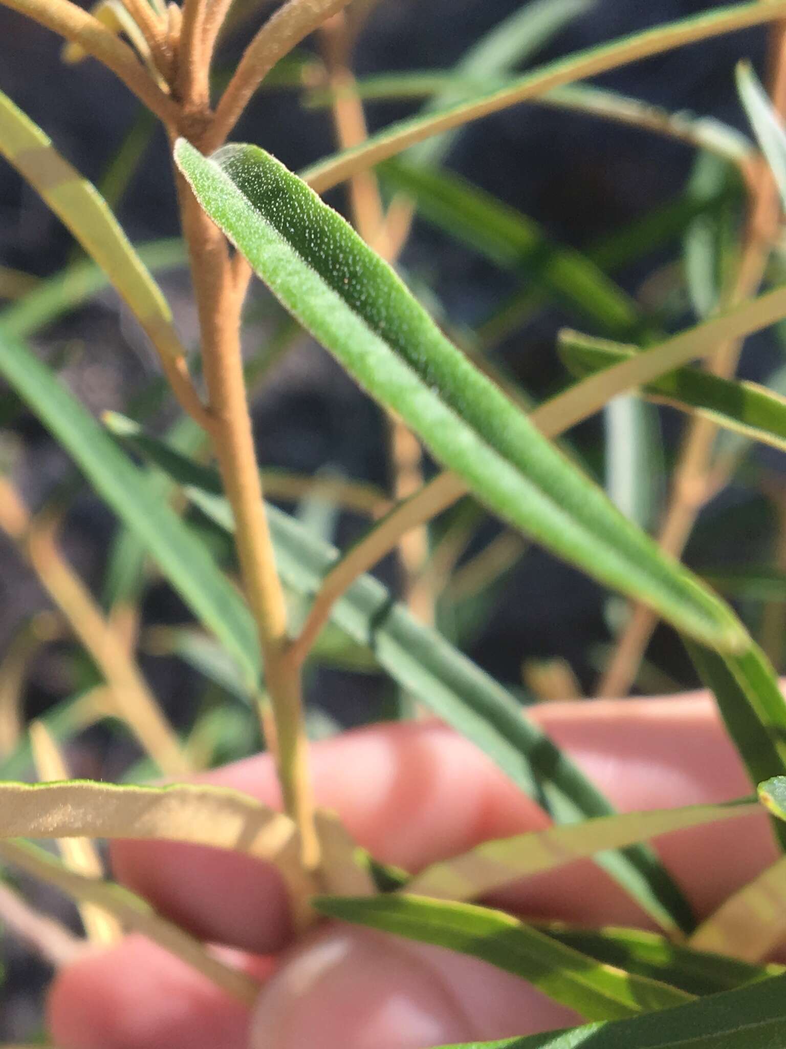
{"label": "blurred tan stem at left, slanting down toward the fingers", "polygon": [[0,478],[0,529],[12,538],[39,582],[104,675],[117,713],[147,753],[171,775],[189,769],[171,727],[128,652],[113,634],[92,595],[63,558],[52,523],[30,518],[10,484]]}

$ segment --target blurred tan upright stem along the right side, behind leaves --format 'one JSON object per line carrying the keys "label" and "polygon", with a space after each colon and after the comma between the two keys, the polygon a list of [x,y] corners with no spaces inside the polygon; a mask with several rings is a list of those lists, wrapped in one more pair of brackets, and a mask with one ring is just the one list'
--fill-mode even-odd
{"label": "blurred tan upright stem along the right side, behind leaves", "polygon": [[[770,98],[776,111],[783,113],[786,110],[786,23],[772,27],[770,67]],[[756,294],[780,224],[778,188],[762,160],[752,169],[748,187],[747,228],[737,278],[726,303],[730,306]],[[743,340],[722,344],[708,362],[707,370],[723,379],[733,376],[742,346]],[[702,507],[718,490],[712,471],[717,433],[716,424],[705,416],[695,416],[687,424],[674,473],[671,501],[658,534],[661,549],[674,557],[681,557]],[[647,605],[633,606],[631,619],[598,683],[598,695],[627,695],[657,622],[657,616]]]}

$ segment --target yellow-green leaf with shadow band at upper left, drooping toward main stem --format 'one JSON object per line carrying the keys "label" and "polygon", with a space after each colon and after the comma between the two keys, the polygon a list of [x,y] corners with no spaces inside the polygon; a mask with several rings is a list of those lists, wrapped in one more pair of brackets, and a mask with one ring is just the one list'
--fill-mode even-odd
{"label": "yellow-green leaf with shadow band at upper left, drooping toward main stem", "polygon": [[123,296],[165,358],[183,356],[160,288],[95,187],[0,92],[0,153],[41,194]]}

